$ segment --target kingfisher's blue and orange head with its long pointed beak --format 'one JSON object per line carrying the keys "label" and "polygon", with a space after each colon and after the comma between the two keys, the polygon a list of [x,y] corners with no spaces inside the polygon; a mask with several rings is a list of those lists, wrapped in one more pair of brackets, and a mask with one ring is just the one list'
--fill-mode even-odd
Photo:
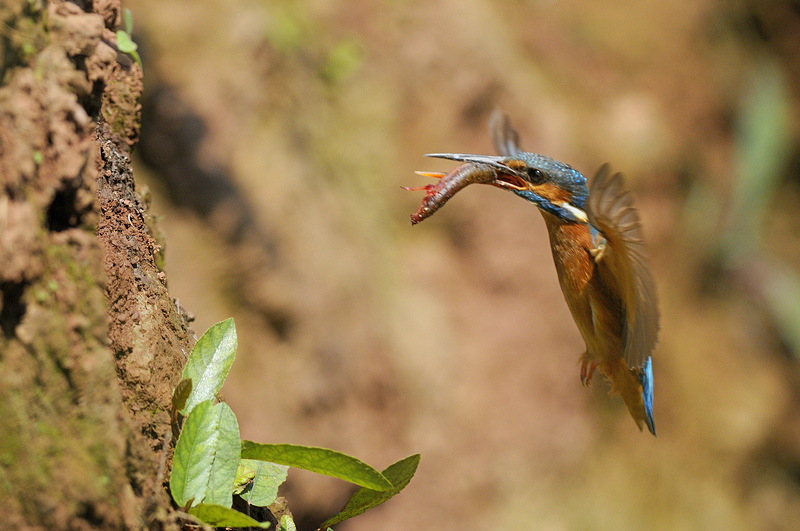
{"label": "kingfisher's blue and orange head with its long pointed beak", "polygon": [[510,190],[559,220],[586,223],[586,177],[563,162],[523,151],[507,156],[431,153],[426,157],[471,162],[495,172],[491,184]]}

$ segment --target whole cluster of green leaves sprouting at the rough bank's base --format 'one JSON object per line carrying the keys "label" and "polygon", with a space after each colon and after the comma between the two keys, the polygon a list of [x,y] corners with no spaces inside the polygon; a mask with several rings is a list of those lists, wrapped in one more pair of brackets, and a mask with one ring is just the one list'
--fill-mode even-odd
{"label": "whole cluster of green leaves sprouting at the rough bank's base", "polygon": [[[338,514],[320,525],[322,529],[380,505],[408,485],[419,455],[378,472],[355,457],[327,448],[242,441],[236,415],[217,400],[236,348],[233,319],[209,328],[197,341],[183,380],[173,392],[173,430],[178,441],[169,486],[172,499],[185,512],[216,527],[267,528],[269,522],[258,522],[233,509],[233,496],[267,507],[275,503],[278,487],[294,467],[361,487]],[[292,529],[291,516],[284,515],[279,530]]]}

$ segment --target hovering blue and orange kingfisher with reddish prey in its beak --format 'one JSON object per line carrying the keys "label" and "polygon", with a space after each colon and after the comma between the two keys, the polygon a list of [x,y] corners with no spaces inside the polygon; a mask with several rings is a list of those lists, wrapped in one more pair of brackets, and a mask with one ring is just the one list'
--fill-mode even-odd
{"label": "hovering blue and orange kingfisher with reddish prey in its beak", "polygon": [[431,153],[461,162],[448,174],[417,172],[441,180],[407,190],[427,190],[418,223],[468,184],[490,184],[536,205],[550,236],[561,291],[586,343],[580,379],[589,387],[595,371],[606,376],[639,429],[655,435],[653,363],[659,314],[639,215],[622,175],[603,165],[587,186],[572,166],[519,147],[508,116],[490,122],[499,155]]}

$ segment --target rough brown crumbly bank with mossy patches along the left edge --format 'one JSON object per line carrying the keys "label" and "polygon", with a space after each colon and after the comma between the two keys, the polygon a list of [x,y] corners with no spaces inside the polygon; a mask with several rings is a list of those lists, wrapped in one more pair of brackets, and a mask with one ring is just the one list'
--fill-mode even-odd
{"label": "rough brown crumbly bank with mossy patches along the left edge", "polygon": [[194,336],[130,169],[119,2],[84,3],[0,5],[2,527],[177,528],[169,408]]}

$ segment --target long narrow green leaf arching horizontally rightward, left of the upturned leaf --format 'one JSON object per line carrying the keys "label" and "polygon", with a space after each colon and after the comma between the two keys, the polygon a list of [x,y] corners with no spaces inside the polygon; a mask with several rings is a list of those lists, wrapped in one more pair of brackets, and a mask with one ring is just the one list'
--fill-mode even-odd
{"label": "long narrow green leaf arching horizontally rightward, left of the upturned leaf", "polygon": [[258,459],[302,468],[379,491],[393,486],[380,472],[363,461],[327,448],[242,441],[242,459]]}

